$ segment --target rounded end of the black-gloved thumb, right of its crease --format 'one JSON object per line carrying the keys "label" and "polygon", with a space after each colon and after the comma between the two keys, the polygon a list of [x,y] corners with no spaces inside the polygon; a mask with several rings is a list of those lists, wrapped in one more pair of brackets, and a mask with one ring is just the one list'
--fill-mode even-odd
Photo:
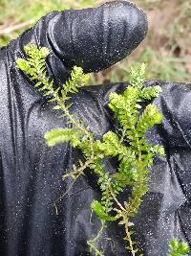
{"label": "rounded end of the black-gloved thumb, right of its crease", "polygon": [[147,32],[147,19],[126,1],[95,9],[61,12],[49,27],[53,48],[66,65],[86,72],[105,69],[128,56]]}

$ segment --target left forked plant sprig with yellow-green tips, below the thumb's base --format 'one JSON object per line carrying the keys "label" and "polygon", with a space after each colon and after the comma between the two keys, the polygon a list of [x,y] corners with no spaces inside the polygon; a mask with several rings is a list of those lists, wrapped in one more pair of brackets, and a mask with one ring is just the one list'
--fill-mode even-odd
{"label": "left forked plant sprig with yellow-green tips, below the thumb's base", "polygon": [[[74,66],[71,73],[71,79],[63,84],[63,88],[60,89],[59,86],[53,84],[53,80],[50,80],[47,76],[46,58],[50,55],[49,49],[42,47],[38,49],[33,44],[28,44],[24,47],[24,51],[27,55],[27,59],[17,58],[16,65],[21,69],[26,75],[28,75],[31,81],[34,82],[34,87],[36,87],[43,96],[50,96],[50,103],[54,103],[54,110],[61,110],[62,115],[60,117],[67,117],[68,124],[71,124],[73,128],[55,128],[45,134],[45,139],[47,145],[53,147],[55,145],[70,142],[73,147],[80,147],[83,150],[85,147],[82,145],[81,141],[85,140],[86,143],[92,145],[93,133],[83,125],[80,120],[76,120],[74,116],[70,113],[69,109],[71,105],[67,105],[67,101],[71,98],[71,94],[78,91],[78,88],[83,87],[88,84],[90,77],[83,73],[82,68]],[[56,89],[55,89],[56,87]],[[60,91],[60,94],[59,94]],[[95,158],[93,149],[91,151],[91,159]],[[77,168],[74,165],[74,170],[71,173],[72,177],[77,178],[83,174],[84,169],[89,166],[90,160],[81,164]]]}

